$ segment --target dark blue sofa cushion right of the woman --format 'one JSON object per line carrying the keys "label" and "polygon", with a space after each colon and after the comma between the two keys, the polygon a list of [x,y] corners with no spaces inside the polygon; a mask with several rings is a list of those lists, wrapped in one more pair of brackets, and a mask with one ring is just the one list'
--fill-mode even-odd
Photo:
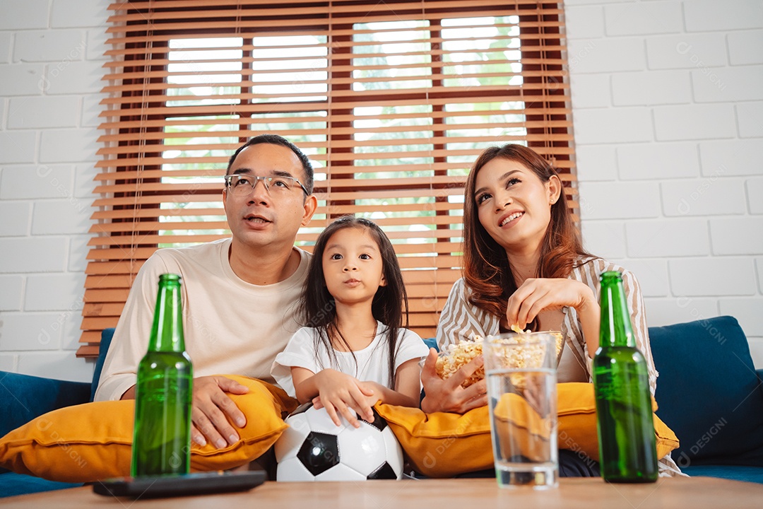
{"label": "dark blue sofa cushion right of the woman", "polygon": [[763,466],[763,388],[736,319],[649,327],[649,339],[678,466]]}

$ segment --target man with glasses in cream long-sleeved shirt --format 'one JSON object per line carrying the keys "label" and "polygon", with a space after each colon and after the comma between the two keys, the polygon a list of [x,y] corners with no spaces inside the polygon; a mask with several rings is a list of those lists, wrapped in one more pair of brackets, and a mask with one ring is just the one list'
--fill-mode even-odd
{"label": "man with glasses in cream long-sleeved shirt", "polygon": [[247,388],[220,373],[272,382],[270,366],[300,327],[296,302],[309,255],[294,246],[317,207],[307,156],[274,134],[230,157],[223,205],[233,234],[199,246],[157,250],[141,267],[114,331],[96,401],[135,398],[148,348],[159,275],[182,276],[185,346],[194,366],[192,440],[223,448],[246,418],[227,392]]}

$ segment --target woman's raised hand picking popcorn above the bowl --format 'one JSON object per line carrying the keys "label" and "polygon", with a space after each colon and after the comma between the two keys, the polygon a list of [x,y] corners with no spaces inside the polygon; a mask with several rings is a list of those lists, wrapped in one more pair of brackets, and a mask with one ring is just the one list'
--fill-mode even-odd
{"label": "woman's raised hand picking popcorn above the bowl", "polygon": [[506,319],[509,326],[524,329],[541,311],[575,308],[578,314],[597,310],[599,304],[591,288],[571,279],[526,279],[509,298]]}

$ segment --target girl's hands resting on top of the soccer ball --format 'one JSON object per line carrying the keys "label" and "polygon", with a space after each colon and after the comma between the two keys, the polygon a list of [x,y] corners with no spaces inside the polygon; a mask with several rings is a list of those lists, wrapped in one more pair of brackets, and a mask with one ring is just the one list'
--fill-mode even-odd
{"label": "girl's hands resting on top of the soccer ball", "polygon": [[[365,420],[372,422],[374,413],[372,405],[378,400],[377,392],[372,382],[359,382],[353,376],[345,375],[334,369],[324,369],[314,375],[314,383],[318,390],[318,403],[326,411],[336,426],[342,425],[341,414],[353,427],[360,427],[357,417],[351,408],[362,415]],[[320,408],[320,407],[318,407]]]}

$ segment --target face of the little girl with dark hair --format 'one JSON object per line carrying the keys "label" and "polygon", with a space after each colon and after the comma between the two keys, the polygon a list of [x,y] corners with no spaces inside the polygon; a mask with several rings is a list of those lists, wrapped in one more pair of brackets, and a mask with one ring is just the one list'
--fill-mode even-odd
{"label": "face of the little girl with dark hair", "polygon": [[336,231],[322,261],[326,286],[337,303],[370,303],[379,286],[387,284],[378,245],[365,228]]}

